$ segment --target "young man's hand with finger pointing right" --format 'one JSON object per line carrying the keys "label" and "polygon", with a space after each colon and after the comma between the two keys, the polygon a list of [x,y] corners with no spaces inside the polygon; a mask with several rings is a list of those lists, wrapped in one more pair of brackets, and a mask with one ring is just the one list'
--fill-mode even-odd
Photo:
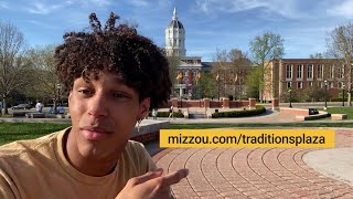
{"label": "young man's hand with finger pointing right", "polygon": [[178,184],[189,175],[188,169],[162,176],[163,169],[147,172],[129,179],[116,199],[168,199],[171,198],[170,186]]}

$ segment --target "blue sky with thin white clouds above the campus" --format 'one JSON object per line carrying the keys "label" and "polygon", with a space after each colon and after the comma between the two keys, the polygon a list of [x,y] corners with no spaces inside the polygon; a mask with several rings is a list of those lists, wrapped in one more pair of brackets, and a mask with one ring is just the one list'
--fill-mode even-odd
{"label": "blue sky with thin white clouds above the campus", "polygon": [[114,12],[163,48],[174,7],[186,55],[204,62],[231,49],[252,59],[249,42],[268,31],[284,39],[284,57],[306,59],[324,52],[328,34],[353,19],[353,0],[0,0],[0,21],[15,25],[34,48],[87,30],[92,12],[103,24]]}

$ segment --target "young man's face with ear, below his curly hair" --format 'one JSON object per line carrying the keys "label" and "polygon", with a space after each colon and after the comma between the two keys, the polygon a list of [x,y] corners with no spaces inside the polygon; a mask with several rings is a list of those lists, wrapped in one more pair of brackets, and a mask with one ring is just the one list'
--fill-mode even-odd
{"label": "young man's face with ear, below his curly hair", "polygon": [[136,122],[149,109],[150,98],[139,103],[138,93],[126,86],[119,75],[99,72],[87,83],[76,78],[68,96],[74,147],[79,156],[115,158],[130,137]]}

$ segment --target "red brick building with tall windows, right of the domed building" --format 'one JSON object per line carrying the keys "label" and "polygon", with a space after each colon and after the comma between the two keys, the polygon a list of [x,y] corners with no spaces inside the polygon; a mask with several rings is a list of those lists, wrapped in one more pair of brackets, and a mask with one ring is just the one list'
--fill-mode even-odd
{"label": "red brick building with tall windows, right of the domed building", "polygon": [[289,90],[300,95],[310,87],[318,92],[327,87],[328,98],[339,97],[344,88],[342,63],[331,59],[281,59],[265,63],[265,101],[282,100]]}

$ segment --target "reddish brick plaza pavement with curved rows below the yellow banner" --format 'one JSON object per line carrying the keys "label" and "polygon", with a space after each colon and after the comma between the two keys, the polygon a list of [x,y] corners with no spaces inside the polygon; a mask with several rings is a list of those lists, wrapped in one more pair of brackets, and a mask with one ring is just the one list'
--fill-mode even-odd
{"label": "reddish brick plaza pavement with curved rows below the yellow banner", "polygon": [[[338,129],[335,147],[353,147],[353,130]],[[353,186],[306,165],[303,148],[178,148],[153,159],[168,172],[189,168],[172,186],[176,198],[353,198]]]}

